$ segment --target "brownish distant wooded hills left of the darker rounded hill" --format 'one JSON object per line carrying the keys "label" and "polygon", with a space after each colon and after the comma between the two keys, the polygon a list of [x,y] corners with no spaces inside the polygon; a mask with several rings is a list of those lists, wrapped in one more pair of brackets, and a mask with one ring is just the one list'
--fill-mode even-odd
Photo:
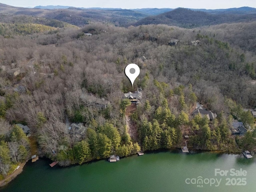
{"label": "brownish distant wooded hills left of the darker rounded hill", "polygon": [[[12,16],[34,16],[45,18],[47,20],[58,20],[76,26],[84,26],[90,22],[104,22],[106,24],[115,24],[116,26],[129,26],[148,14],[136,12],[127,9],[114,10],[96,10],[70,7],[68,9],[36,9],[36,8],[18,8],[0,4],[2,14],[11,14]],[[55,26],[57,27],[57,26]]]}

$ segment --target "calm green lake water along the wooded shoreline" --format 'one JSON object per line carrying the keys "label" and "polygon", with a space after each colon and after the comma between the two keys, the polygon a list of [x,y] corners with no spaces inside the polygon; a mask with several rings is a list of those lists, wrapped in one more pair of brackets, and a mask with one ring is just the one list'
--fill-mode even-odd
{"label": "calm green lake water along the wooded shoreline", "polygon": [[256,162],[242,155],[177,151],[100,160],[66,168],[28,162],[2,192],[255,191]]}

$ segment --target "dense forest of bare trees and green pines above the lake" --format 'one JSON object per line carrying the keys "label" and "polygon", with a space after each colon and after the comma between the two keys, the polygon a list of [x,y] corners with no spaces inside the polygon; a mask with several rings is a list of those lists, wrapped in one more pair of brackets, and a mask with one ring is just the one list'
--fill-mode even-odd
{"label": "dense forest of bare trees and green pines above the lake", "polygon": [[[185,140],[196,150],[255,150],[255,119],[245,109],[256,107],[256,22],[193,29],[62,24],[0,25],[0,178],[33,155],[31,138],[37,155],[61,166]],[[133,86],[124,74],[130,63],[140,67]],[[123,99],[137,88],[139,104]],[[97,99],[108,106],[99,108]],[[217,118],[192,115],[197,103]],[[244,136],[232,135],[235,120],[248,130]]]}

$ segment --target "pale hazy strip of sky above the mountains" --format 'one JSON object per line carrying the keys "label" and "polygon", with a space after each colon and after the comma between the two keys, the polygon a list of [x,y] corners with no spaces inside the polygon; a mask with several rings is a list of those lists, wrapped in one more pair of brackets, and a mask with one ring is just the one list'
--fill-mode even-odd
{"label": "pale hazy strip of sky above the mountains", "polygon": [[38,5],[63,5],[101,8],[234,8],[249,6],[256,8],[256,0],[0,0],[0,3],[18,7]]}

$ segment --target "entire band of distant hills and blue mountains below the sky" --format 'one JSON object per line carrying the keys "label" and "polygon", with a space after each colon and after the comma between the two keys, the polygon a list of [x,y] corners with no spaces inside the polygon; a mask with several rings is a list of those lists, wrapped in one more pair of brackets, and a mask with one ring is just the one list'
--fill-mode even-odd
{"label": "entire band of distant hills and blue mountains below the sky", "polygon": [[[27,17],[27,18],[25,18]],[[29,17],[29,18],[28,18]],[[256,20],[256,8],[241,7],[229,9],[188,8],[76,8],[71,6],[36,6],[22,8],[0,3],[0,22],[22,22],[40,18],[40,23],[49,26],[66,26],[66,23],[84,26],[89,22],[112,23],[115,26],[139,26],[146,24],[167,24],[184,28],[195,28],[232,22]],[[19,18],[22,18],[19,19]],[[42,20],[41,18],[44,18]],[[56,22],[58,21],[58,22]],[[65,23],[59,23],[65,22]]]}

